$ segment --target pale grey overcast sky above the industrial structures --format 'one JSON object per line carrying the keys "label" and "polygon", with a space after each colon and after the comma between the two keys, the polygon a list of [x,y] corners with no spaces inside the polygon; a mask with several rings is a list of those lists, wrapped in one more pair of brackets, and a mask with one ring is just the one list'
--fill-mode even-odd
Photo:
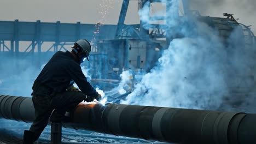
{"label": "pale grey overcast sky above the industrial structures", "polygon": [[[117,24],[123,0],[0,0],[0,2],[0,21],[19,19],[19,21]],[[223,13],[235,14],[234,17],[239,18],[238,22],[253,25],[251,28],[256,33],[255,0],[190,0],[190,7],[206,16],[223,17]],[[125,23],[139,23],[137,13],[137,0],[131,0]]]}

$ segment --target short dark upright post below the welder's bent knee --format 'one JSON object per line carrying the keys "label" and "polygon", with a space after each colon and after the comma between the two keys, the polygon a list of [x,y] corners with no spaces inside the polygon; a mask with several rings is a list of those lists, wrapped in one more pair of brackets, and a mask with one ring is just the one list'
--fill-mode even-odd
{"label": "short dark upright post below the welder's bent knee", "polygon": [[61,144],[61,123],[51,123],[51,144]]}

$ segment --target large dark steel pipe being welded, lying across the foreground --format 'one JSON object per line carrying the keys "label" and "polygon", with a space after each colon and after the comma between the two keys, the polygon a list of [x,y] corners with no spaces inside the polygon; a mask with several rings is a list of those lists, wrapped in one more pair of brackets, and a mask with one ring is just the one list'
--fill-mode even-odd
{"label": "large dark steel pipe being welded, lying across the foreground", "polygon": [[[0,96],[0,117],[32,122],[32,99]],[[79,104],[63,127],[171,143],[247,144],[256,141],[256,114],[168,107]]]}

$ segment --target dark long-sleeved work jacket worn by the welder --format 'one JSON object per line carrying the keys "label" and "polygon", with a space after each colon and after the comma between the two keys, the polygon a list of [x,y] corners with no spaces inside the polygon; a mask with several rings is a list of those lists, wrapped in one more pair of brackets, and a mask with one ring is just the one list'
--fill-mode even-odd
{"label": "dark long-sleeved work jacket worn by the welder", "polygon": [[44,66],[36,81],[53,89],[54,92],[65,92],[71,81],[77,83],[79,89],[86,95],[98,95],[84,76],[80,64],[75,61],[71,52],[58,51]]}

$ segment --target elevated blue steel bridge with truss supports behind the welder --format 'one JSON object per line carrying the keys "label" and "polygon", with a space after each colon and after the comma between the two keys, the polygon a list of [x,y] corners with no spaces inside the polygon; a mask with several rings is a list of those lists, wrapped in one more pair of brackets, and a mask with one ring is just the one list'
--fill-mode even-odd
{"label": "elevated blue steel bridge with truss supports behind the welder", "polygon": [[[34,52],[37,46],[37,51],[41,52],[41,46],[45,41],[53,42],[54,51],[64,48],[64,45],[69,45],[70,42],[77,41],[78,39],[92,40],[96,39],[109,39],[114,38],[114,33],[117,29],[117,25],[102,25],[100,34],[95,35],[94,24],[82,24],[77,23],[61,23],[57,21],[41,22],[20,22],[15,21],[0,21],[0,51],[20,52],[20,41],[31,41],[31,44],[27,47]],[[6,44],[6,41],[10,41],[10,45]]]}

